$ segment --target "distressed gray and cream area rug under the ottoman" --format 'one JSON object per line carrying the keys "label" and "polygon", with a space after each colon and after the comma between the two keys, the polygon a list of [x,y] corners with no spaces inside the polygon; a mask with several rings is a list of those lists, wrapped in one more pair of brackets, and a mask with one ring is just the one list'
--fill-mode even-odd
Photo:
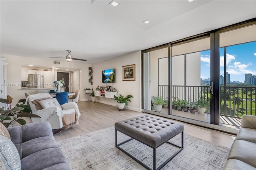
{"label": "distressed gray and cream area rug under the ottoman", "polygon": [[[118,132],[118,143],[129,137]],[[180,146],[181,135],[170,142]],[[144,170],[145,168],[115,147],[114,127],[61,140],[58,145],[73,170]],[[121,145],[144,164],[153,166],[152,148],[131,140]],[[157,167],[178,150],[163,144],[156,150]],[[228,157],[229,148],[219,146],[188,134],[184,134],[184,149],[162,170],[221,170]]]}

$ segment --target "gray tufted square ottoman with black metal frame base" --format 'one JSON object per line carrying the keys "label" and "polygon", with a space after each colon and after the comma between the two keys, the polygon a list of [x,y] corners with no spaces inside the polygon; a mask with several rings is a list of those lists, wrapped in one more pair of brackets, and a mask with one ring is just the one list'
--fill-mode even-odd
{"label": "gray tufted square ottoman with black metal frame base", "polygon": [[[151,169],[140,160],[134,158],[131,154],[120,148],[119,146],[129,142],[130,140],[138,140],[139,142],[142,142],[143,144],[146,144],[147,146],[153,148],[153,170],[159,170],[163,166],[165,166],[174,156],[176,156],[182,149],[183,149],[183,130],[184,125],[181,123],[176,123],[174,121],[169,121],[166,119],[161,119],[158,117],[153,117],[149,115],[141,115],[138,117],[134,117],[131,119],[127,119],[124,121],[116,122],[115,123],[115,131],[116,131],[116,147],[128,156],[130,156],[132,159],[134,159],[136,162],[141,164],[147,169]],[[117,131],[122,132],[131,138],[121,142],[120,144],[117,144]],[[171,138],[176,136],[177,134],[181,133],[181,146],[177,146],[175,144],[172,144],[168,142]],[[162,165],[160,165],[156,169],[156,148],[161,146],[167,142],[168,144],[172,144],[179,148],[170,158],[168,158]]]}

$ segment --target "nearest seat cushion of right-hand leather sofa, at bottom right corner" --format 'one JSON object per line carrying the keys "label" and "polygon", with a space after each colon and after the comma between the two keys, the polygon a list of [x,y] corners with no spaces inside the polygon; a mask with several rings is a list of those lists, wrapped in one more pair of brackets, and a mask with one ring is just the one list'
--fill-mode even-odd
{"label": "nearest seat cushion of right-hand leather sofa, at bottom right corner", "polygon": [[255,167],[237,159],[229,159],[223,166],[224,170],[255,170]]}

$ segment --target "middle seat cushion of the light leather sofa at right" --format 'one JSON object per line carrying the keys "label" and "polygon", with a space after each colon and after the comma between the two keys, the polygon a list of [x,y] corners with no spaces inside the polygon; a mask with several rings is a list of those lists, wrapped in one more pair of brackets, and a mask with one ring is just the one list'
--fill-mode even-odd
{"label": "middle seat cushion of the light leather sofa at right", "polygon": [[256,144],[246,140],[235,140],[231,146],[228,159],[237,159],[256,167]]}

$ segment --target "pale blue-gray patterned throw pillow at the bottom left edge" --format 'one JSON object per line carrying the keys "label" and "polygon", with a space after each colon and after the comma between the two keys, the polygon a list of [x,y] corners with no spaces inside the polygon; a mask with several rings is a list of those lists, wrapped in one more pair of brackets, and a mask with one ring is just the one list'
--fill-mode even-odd
{"label": "pale blue-gray patterned throw pillow at the bottom left edge", "polygon": [[20,170],[20,155],[8,138],[0,135],[0,157],[6,170]]}

